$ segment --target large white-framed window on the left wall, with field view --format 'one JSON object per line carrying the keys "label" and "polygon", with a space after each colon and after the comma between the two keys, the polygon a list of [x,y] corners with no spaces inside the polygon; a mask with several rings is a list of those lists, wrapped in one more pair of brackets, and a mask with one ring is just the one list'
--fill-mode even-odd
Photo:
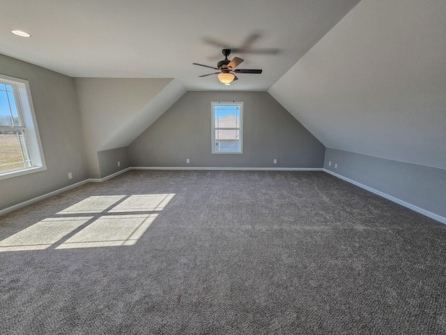
{"label": "large white-framed window on the left wall, with field view", "polygon": [[45,169],[29,84],[0,75],[0,179]]}

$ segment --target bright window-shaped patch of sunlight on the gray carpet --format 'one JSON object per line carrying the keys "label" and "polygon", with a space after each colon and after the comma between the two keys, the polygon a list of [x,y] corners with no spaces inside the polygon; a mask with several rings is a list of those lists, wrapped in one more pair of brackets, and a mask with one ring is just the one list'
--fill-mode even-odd
{"label": "bright window-shaped patch of sunlight on the gray carpet", "polygon": [[174,196],[91,196],[3,239],[0,252],[132,246]]}

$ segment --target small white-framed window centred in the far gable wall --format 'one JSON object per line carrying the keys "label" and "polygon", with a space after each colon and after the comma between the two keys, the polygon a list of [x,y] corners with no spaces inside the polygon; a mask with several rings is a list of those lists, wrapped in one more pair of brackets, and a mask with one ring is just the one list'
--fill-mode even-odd
{"label": "small white-framed window centred in the far gable wall", "polygon": [[212,153],[241,154],[243,103],[212,103]]}

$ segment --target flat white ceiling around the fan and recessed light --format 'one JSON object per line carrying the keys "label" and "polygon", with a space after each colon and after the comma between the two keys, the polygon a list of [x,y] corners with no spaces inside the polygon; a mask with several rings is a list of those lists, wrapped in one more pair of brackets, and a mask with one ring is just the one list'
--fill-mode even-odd
{"label": "flat white ceiling around the fan and recessed light", "polygon": [[[1,1],[0,53],[71,77],[171,77],[188,90],[218,89],[224,47],[238,90],[266,91],[360,0]],[[11,29],[29,32],[19,38]]]}

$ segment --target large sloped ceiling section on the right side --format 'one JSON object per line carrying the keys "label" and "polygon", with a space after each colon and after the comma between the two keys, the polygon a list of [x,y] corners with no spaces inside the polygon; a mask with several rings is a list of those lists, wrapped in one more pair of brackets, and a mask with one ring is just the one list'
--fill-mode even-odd
{"label": "large sloped ceiling section on the right side", "polygon": [[445,17],[362,0],[269,92],[326,147],[446,169]]}

